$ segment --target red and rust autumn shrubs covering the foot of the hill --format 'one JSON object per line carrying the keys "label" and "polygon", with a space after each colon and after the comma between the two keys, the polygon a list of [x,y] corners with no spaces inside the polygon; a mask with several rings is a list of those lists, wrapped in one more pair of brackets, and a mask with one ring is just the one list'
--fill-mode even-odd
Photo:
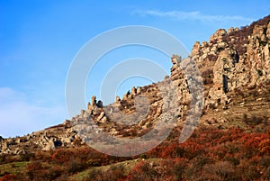
{"label": "red and rust autumn shrubs covering the foot of the hill", "polygon": [[[132,158],[108,156],[86,146],[40,151],[31,155],[24,173],[6,174],[0,181],[68,180],[90,168],[85,181],[270,179],[269,130],[248,132],[201,126],[184,143],[178,143],[177,135],[179,131],[175,130],[155,149]],[[134,159],[138,160],[134,167],[113,165]]]}

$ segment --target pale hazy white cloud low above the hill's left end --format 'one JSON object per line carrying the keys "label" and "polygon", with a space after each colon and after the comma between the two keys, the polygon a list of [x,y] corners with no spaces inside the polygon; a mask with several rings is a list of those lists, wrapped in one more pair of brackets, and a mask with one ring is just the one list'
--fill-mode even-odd
{"label": "pale hazy white cloud low above the hill's left end", "polygon": [[0,87],[0,136],[9,137],[42,130],[67,117],[62,106],[30,104],[26,96],[9,87]]}

